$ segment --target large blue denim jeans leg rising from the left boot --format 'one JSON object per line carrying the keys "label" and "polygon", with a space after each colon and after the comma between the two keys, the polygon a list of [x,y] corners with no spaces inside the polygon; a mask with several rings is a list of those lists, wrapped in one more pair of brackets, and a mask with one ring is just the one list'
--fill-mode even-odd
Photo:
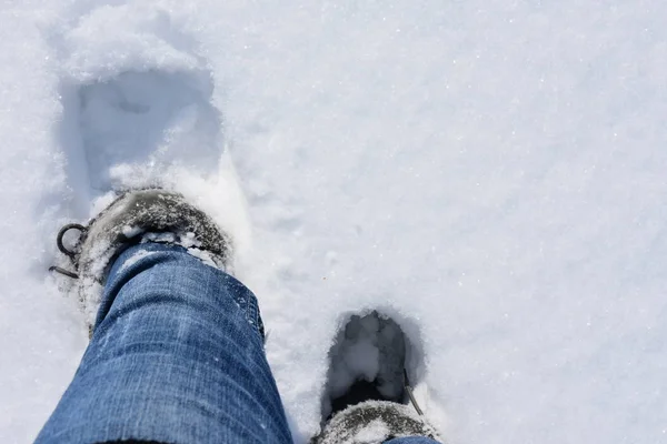
{"label": "large blue denim jeans leg rising from the left boot", "polygon": [[135,245],[37,443],[291,443],[262,336],[239,281],[180,246]]}

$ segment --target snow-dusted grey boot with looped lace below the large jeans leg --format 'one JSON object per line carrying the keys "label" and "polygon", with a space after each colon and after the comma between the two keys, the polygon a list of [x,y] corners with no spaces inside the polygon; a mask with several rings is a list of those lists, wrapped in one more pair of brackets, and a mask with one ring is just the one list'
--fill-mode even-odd
{"label": "snow-dusted grey boot with looped lace below the large jeans leg", "polygon": [[[80,234],[73,246],[68,248],[63,238],[72,230]],[[229,239],[181,194],[160,189],[125,192],[86,226],[68,224],[58,234],[58,248],[70,258],[74,270],[59,266],[51,270],[78,280],[79,300],[89,324],[94,319],[112,260],[127,248],[147,241],[181,245],[221,270],[227,268],[231,255]]]}

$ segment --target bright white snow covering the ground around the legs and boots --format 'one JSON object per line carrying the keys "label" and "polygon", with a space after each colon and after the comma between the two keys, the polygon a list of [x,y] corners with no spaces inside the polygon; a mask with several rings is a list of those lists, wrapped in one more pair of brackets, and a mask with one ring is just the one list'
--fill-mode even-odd
{"label": "bright white snow covering the ground around the legs and boots", "polygon": [[4,1],[2,441],[36,436],[87,344],[46,272],[57,230],[163,182],[232,233],[297,441],[337,332],[379,307],[420,342],[416,394],[449,443],[665,442],[666,18]]}

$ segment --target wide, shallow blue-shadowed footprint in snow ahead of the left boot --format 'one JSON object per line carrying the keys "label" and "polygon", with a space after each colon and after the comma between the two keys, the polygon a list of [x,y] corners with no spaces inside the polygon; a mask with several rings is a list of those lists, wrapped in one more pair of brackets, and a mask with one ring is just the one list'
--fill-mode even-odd
{"label": "wide, shallow blue-shadowed footprint in snow ahead of the left boot", "polygon": [[[72,188],[160,184],[170,165],[211,174],[222,120],[206,69],[127,71],[91,83],[63,81],[59,128]],[[86,183],[88,182],[88,183]]]}

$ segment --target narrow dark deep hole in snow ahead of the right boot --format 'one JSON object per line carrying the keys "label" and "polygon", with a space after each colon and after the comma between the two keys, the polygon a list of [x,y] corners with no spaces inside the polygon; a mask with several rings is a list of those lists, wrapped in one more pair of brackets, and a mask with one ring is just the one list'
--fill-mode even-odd
{"label": "narrow dark deep hole in snow ahead of the right boot", "polygon": [[329,352],[323,420],[368,400],[408,403],[404,370],[415,386],[424,373],[424,354],[418,327],[395,319],[376,310],[349,316],[340,329]]}

